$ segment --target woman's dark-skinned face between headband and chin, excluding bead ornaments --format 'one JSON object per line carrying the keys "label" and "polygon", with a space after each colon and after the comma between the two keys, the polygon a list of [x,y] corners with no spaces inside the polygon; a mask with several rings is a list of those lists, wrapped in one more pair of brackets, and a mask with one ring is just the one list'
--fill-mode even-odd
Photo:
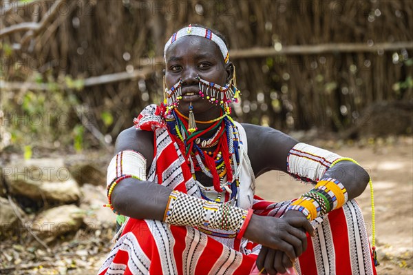
{"label": "woman's dark-skinned face between headband and chin, excluding bead ornaments", "polygon": [[199,118],[202,114],[202,117],[219,115],[220,105],[213,105],[199,96],[196,76],[225,85],[231,72],[228,68],[229,65],[224,64],[220,48],[209,39],[188,36],[172,43],[166,52],[165,81],[169,89],[182,78],[182,99],[178,110],[188,114],[192,103],[193,113],[198,114]]}

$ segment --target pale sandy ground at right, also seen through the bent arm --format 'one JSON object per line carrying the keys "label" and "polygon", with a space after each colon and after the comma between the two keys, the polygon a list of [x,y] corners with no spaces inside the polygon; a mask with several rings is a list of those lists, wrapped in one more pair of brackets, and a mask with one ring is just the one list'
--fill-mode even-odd
{"label": "pale sandy ground at right, also seen through the bent arm", "polygon": [[[377,273],[413,274],[413,139],[370,141],[362,147],[325,141],[318,143],[341,156],[356,159],[372,177],[380,262]],[[294,181],[279,172],[268,172],[256,182],[256,194],[273,201],[296,198],[310,188],[311,185]],[[369,187],[357,202],[368,228],[371,228]]]}

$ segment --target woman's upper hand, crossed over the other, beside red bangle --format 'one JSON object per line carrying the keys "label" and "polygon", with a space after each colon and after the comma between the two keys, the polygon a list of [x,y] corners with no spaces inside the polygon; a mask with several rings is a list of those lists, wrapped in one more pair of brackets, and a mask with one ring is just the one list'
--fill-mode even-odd
{"label": "woman's upper hand, crossed over the other, beside red bangle", "polygon": [[255,243],[285,252],[294,262],[306,249],[306,233],[314,235],[314,228],[305,217],[259,216],[253,214],[244,237]]}

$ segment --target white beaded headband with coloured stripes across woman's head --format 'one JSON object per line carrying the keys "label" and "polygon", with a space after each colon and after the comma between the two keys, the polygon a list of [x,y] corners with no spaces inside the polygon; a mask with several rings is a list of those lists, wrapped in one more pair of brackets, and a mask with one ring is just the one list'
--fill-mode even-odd
{"label": "white beaded headband with coloured stripes across woman's head", "polygon": [[222,57],[224,57],[224,63],[229,62],[228,48],[226,48],[224,41],[222,41],[222,39],[218,37],[218,35],[211,32],[211,30],[206,29],[206,28],[201,28],[201,27],[192,27],[191,24],[189,24],[188,27],[182,28],[178,30],[178,32],[175,32],[174,34],[172,34],[171,38],[165,44],[164,58],[166,59],[167,50],[173,42],[177,41],[178,39],[182,37],[187,37],[189,35],[195,35],[197,37],[204,37],[206,39],[209,39],[215,42],[215,44],[217,44],[218,47],[220,47]]}

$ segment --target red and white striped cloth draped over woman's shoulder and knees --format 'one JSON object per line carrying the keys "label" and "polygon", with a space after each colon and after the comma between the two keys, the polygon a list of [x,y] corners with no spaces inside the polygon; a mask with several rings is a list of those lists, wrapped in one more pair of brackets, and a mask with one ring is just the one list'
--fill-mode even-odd
{"label": "red and white striped cloth draped over woman's shoulder and knees", "polygon": [[[137,120],[138,128],[155,132],[156,152],[148,180],[200,196],[178,145],[165,124],[159,123],[158,107],[151,105],[142,113],[145,124]],[[157,116],[155,127],[150,116]],[[253,210],[279,217],[290,203],[255,196]],[[308,248],[295,263],[299,274],[376,274],[366,226],[355,201],[313,225],[315,236],[308,237]],[[217,238],[193,227],[129,218],[98,274],[249,274],[260,249],[261,245],[246,239]]]}

